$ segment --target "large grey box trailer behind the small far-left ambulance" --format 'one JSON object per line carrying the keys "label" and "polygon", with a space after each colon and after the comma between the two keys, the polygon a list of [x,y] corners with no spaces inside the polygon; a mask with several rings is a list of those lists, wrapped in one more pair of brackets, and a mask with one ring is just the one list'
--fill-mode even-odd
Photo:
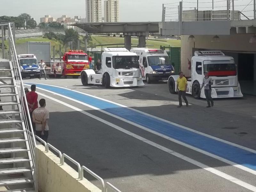
{"label": "large grey box trailer behind the small far-left ambulance", "polygon": [[46,64],[51,63],[51,42],[34,42],[28,41],[16,45],[17,55],[34,54],[37,60],[44,60]]}

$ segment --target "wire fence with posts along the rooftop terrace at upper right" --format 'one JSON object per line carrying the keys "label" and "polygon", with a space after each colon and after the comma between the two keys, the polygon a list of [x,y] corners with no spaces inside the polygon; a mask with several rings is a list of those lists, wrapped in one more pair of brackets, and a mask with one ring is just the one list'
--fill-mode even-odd
{"label": "wire fence with posts along the rooftop terrace at upper right", "polygon": [[162,22],[256,19],[255,0],[183,0],[163,4]]}

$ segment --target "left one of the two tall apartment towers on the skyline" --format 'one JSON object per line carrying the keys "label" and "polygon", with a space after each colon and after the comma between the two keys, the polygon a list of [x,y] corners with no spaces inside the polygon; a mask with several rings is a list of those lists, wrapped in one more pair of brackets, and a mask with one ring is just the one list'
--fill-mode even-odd
{"label": "left one of the two tall apartment towers on the skyline", "polygon": [[101,0],[86,0],[85,4],[87,22],[102,22]]}

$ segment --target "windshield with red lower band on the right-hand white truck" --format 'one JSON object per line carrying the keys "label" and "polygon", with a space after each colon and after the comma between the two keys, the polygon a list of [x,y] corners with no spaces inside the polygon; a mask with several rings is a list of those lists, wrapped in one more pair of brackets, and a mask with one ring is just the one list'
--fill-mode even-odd
{"label": "windshield with red lower band on the right-hand white truck", "polygon": [[209,76],[235,76],[235,63],[210,63],[204,64],[204,71],[209,72]]}

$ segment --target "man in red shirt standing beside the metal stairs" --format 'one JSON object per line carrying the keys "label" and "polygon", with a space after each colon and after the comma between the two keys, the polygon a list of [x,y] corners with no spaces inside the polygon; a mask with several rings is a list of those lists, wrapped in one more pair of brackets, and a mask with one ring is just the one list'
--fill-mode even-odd
{"label": "man in red shirt standing beside the metal stairs", "polygon": [[36,85],[31,85],[31,92],[28,92],[26,94],[26,98],[28,102],[28,110],[29,110],[29,115],[32,122],[33,130],[35,130],[35,123],[33,123],[32,121],[32,113],[36,108],[38,108],[37,97],[38,95],[36,93]]}

